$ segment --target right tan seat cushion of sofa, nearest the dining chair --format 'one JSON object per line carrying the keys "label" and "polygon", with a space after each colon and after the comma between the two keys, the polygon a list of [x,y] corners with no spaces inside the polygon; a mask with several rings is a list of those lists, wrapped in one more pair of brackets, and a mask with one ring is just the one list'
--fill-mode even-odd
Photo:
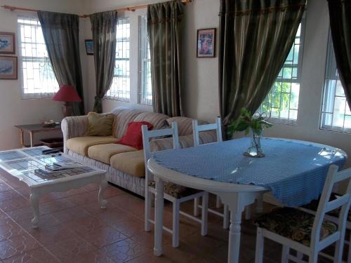
{"label": "right tan seat cushion of sofa, nearest the dining chair", "polygon": [[144,151],[129,151],[115,154],[110,159],[111,166],[121,172],[137,177],[145,176]]}

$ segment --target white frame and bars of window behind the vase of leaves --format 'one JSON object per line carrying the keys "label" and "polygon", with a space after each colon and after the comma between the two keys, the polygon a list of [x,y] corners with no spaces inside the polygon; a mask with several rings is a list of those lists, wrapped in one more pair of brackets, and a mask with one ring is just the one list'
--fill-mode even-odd
{"label": "white frame and bars of window behind the vase of leaves", "polygon": [[[306,18],[305,18],[305,14],[303,14],[303,18],[301,19],[300,21],[300,43],[299,43],[299,46],[300,46],[300,49],[299,49],[299,53],[298,53],[298,64],[291,64],[291,68],[294,68],[295,65],[296,65],[296,69],[297,69],[297,75],[296,75],[296,79],[284,79],[284,74],[282,76],[282,78],[279,78],[279,76],[277,76],[277,79],[275,79],[269,93],[267,94],[267,97],[272,95],[272,89],[274,88],[274,84],[275,83],[298,83],[299,86],[301,84],[301,76],[302,76],[302,68],[303,68],[303,51],[304,51],[304,47],[305,47],[305,23],[306,23]],[[294,39],[294,43],[293,45],[295,44],[295,39]],[[293,48],[293,46],[291,46],[291,49]],[[290,53],[290,50],[289,50],[289,53]],[[285,61],[284,61],[284,64],[282,66],[282,68],[279,70],[279,73],[280,71],[284,68],[284,65],[285,65]],[[282,95],[282,92],[280,92],[281,95]],[[284,92],[285,93],[285,92]],[[272,123],[277,123],[277,124],[284,124],[284,125],[291,125],[291,126],[296,126],[297,125],[297,122],[298,122],[298,107],[296,109],[291,109],[290,107],[290,102],[291,102],[291,89],[290,89],[290,92],[288,93],[289,94],[289,115],[288,115],[288,118],[284,118],[284,117],[280,117],[280,108],[279,108],[279,117],[272,117],[271,114],[272,114],[272,108],[274,109],[278,109],[277,107],[272,107],[272,102],[270,103],[270,112],[269,112],[269,121],[272,122]],[[265,100],[266,98],[265,97]],[[300,97],[300,90],[299,90],[299,94],[298,94],[298,97]],[[256,112],[263,112],[262,111],[262,105],[263,103],[265,102],[265,100],[263,100],[263,102],[260,104],[260,106],[258,107],[258,110]],[[300,103],[300,100],[298,100],[298,104]],[[280,106],[280,104],[279,104]],[[296,119],[290,119],[289,116],[290,116],[290,111],[291,110],[296,110],[297,111],[297,116],[296,116]]]}

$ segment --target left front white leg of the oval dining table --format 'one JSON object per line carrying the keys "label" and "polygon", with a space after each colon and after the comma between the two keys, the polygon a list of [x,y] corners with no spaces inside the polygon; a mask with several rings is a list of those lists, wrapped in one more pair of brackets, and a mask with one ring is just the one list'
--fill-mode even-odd
{"label": "left front white leg of the oval dining table", "polygon": [[162,255],[162,231],[164,229],[164,181],[154,176],[156,194],[154,204],[154,255]]}

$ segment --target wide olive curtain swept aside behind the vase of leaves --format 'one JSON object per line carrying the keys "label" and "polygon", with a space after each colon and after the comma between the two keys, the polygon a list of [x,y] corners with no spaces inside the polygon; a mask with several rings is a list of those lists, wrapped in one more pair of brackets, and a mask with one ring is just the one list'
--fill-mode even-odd
{"label": "wide olive curtain swept aside behind the vase of leaves", "polygon": [[263,102],[289,55],[304,9],[305,0],[220,0],[219,98],[224,126],[237,119],[242,107],[253,113]]}

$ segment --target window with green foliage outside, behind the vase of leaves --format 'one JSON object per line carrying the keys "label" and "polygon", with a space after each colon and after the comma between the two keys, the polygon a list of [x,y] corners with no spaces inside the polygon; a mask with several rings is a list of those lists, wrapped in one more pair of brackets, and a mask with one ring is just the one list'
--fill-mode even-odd
{"label": "window with green foliage outside, behind the vase of leaves", "polygon": [[298,95],[303,56],[303,22],[298,27],[295,41],[270,93],[258,112],[270,114],[275,123],[295,124],[298,119]]}

